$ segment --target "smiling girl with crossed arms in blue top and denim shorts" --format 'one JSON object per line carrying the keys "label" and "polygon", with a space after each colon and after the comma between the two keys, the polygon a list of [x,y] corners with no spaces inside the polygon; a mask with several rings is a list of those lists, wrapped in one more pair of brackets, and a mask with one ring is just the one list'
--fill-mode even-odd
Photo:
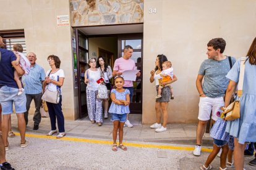
{"label": "smiling girl with crossed arms in blue top and denim shorts", "polygon": [[119,132],[119,148],[126,151],[127,147],[122,144],[122,137],[124,135],[124,123],[126,122],[127,114],[130,113],[130,91],[124,89],[124,78],[122,76],[116,76],[114,78],[114,89],[111,91],[111,106],[109,108],[109,113],[112,113],[111,121],[113,121],[113,146],[112,150],[117,151],[117,132]]}

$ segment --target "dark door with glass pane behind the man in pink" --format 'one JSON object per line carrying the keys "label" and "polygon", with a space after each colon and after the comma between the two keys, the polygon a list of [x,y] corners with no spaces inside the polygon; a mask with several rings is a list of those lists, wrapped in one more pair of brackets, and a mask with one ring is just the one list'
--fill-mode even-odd
{"label": "dark door with glass pane behind the man in pink", "polygon": [[134,95],[130,103],[130,113],[142,114],[142,78],[143,78],[143,34],[124,34],[118,36],[118,57],[124,55],[124,46],[130,45],[134,52],[131,59],[134,60],[140,77],[134,82]]}

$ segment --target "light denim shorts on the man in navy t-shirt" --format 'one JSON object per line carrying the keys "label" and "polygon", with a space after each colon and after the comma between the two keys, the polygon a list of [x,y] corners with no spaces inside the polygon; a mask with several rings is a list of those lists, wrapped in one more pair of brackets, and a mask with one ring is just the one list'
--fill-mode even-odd
{"label": "light denim shorts on the man in navy t-shirt", "polygon": [[2,86],[0,89],[0,103],[2,106],[2,115],[9,115],[13,113],[13,104],[15,106],[15,113],[24,113],[27,111],[27,98],[25,92],[18,95],[19,89]]}

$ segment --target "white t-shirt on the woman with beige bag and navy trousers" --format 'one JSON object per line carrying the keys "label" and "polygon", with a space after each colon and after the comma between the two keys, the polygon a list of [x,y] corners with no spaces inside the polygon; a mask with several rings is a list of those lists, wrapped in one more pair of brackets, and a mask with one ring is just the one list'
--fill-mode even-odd
{"label": "white t-shirt on the woman with beige bag and navy trousers", "polygon": [[[46,72],[46,76],[48,76],[49,75],[49,72],[50,72],[51,70],[48,70],[47,72]],[[50,79],[53,79],[53,80],[55,80],[55,81],[59,81],[59,78],[65,78],[65,75],[64,75],[64,71],[62,70],[62,69],[59,69],[58,71],[56,71],[56,73],[51,73],[50,75],[49,75],[49,78]],[[53,83],[49,83],[49,84],[47,84],[46,85],[46,88],[48,88],[48,90],[49,91],[52,91],[52,92],[56,92],[57,91],[57,89],[59,88],[59,91],[61,92],[61,87],[57,87],[57,85],[56,84],[53,84]]]}

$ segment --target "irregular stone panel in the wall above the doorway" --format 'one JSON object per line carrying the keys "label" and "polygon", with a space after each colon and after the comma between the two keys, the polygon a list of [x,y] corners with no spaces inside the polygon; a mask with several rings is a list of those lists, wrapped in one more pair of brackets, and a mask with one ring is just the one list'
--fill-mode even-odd
{"label": "irregular stone panel in the wall above the doorway", "polygon": [[70,0],[72,26],[143,22],[144,0]]}

